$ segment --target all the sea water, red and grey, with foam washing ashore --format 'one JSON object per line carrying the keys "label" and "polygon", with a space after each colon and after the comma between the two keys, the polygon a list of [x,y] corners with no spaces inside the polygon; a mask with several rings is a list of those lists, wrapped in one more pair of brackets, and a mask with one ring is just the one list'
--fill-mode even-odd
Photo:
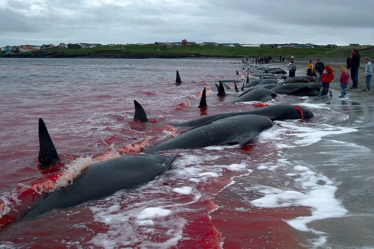
{"label": "all the sea water, red and grey, with foam washing ashore", "polygon": [[[238,95],[233,83],[216,96],[218,80],[244,78],[235,74],[240,61],[0,59],[0,247],[374,247],[374,104],[338,91],[280,95],[262,104],[298,104],[315,117],[277,121],[245,146],[164,152],[180,156],[138,189],[19,221],[84,168],[186,129],[172,123],[258,108],[228,104]],[[200,110],[204,87],[208,108]],[[150,123],[133,122],[133,100]],[[39,117],[62,158],[59,171],[37,168]]]}

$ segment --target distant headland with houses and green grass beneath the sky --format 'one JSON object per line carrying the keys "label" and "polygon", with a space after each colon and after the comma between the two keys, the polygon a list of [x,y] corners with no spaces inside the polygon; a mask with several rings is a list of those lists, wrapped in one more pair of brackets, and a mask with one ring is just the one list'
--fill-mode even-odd
{"label": "distant headland with houses and green grass beneath the sky", "polygon": [[241,44],[216,42],[155,42],[137,44],[107,44],[98,43],[60,43],[59,45],[43,44],[5,46],[0,48],[3,58],[193,58],[193,57],[225,57],[245,58],[279,55],[299,58],[310,57],[348,57],[355,47],[360,54],[374,57],[374,46],[350,44],[338,46],[335,44],[316,45],[311,43],[298,44]]}

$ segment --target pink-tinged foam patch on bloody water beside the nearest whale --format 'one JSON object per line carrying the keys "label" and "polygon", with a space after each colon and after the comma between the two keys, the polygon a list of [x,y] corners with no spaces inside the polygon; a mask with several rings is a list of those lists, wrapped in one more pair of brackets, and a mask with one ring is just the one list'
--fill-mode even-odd
{"label": "pink-tinged foam patch on bloody water beside the nearest whale", "polygon": [[[191,205],[202,198],[198,190],[201,183],[209,184],[213,178],[218,179],[224,168],[236,175],[245,175],[252,171],[247,168],[245,162],[227,165],[212,163],[219,159],[218,155],[206,153],[201,156],[184,154],[161,179],[139,189],[118,191],[99,201],[90,209],[95,222],[105,224],[108,231],[95,235],[90,243],[104,248],[126,248],[133,245],[139,245],[139,248],[176,246],[183,238],[183,231],[188,223],[180,212],[201,212],[201,206],[198,205],[194,210]],[[163,178],[172,181],[173,187],[160,184]],[[226,187],[234,183],[231,180]],[[153,196],[157,197],[152,198]],[[206,197],[203,197],[203,200],[206,200]],[[212,208],[209,212],[216,209],[217,207]],[[209,213],[206,215],[210,217]],[[162,242],[155,243],[155,237],[163,238]]]}

